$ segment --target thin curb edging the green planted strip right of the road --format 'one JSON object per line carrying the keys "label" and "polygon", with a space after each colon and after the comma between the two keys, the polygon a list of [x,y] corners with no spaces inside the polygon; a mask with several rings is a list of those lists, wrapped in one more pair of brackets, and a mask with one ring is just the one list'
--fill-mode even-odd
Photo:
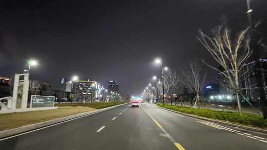
{"label": "thin curb edging the green planted strip right of the road", "polygon": [[267,134],[267,130],[264,130],[264,129],[258,129],[258,128],[254,128],[254,127],[247,127],[247,126],[243,126],[243,125],[239,125],[239,124],[223,122],[223,121],[214,120],[214,119],[210,119],[210,118],[199,117],[199,116],[193,115],[193,114],[177,112],[177,111],[169,110],[169,109],[162,108],[162,107],[159,107],[159,106],[157,106],[157,107],[159,109],[163,109],[163,110],[167,110],[167,111],[170,111],[170,112],[179,113],[179,114],[182,114],[182,115],[185,115],[185,116],[189,116],[189,117],[192,117],[192,118],[197,118],[197,119],[201,119],[201,120],[206,120],[206,121],[210,121],[210,122],[215,122],[215,123],[219,123],[219,124],[229,125],[229,126],[232,126],[232,127],[238,127],[238,128],[241,128],[241,129],[252,130],[252,131],[256,131],[256,132],[261,132],[261,133],[266,133]]}

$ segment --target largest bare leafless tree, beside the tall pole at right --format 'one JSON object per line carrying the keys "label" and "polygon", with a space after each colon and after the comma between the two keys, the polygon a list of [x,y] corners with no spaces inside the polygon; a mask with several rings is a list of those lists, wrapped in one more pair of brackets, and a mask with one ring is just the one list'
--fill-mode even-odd
{"label": "largest bare leafless tree, beside the tall pole at right", "polygon": [[200,31],[198,40],[210,52],[213,58],[223,67],[223,71],[204,63],[212,69],[218,71],[226,79],[228,84],[225,85],[232,89],[236,95],[238,112],[241,114],[239,71],[244,66],[246,60],[250,57],[252,51],[249,46],[250,38],[247,34],[248,28],[241,31],[236,38],[231,38],[231,30],[226,24],[215,28],[211,37]]}

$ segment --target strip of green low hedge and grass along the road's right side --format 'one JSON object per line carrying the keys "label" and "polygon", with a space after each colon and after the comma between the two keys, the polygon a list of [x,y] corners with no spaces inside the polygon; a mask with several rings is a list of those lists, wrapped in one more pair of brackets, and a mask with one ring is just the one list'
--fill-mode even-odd
{"label": "strip of green low hedge and grass along the road's right side", "polygon": [[240,115],[237,112],[222,112],[222,111],[214,111],[208,109],[193,109],[189,107],[179,107],[179,106],[171,106],[163,104],[157,104],[157,105],[159,107],[174,110],[177,112],[194,114],[202,117],[267,129],[267,119],[263,119],[262,116],[257,114],[242,113]]}

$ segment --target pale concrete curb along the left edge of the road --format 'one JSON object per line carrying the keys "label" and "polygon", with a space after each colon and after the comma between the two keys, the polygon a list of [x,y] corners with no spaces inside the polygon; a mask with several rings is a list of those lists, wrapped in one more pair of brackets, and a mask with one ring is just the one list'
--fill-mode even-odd
{"label": "pale concrete curb along the left edge of the road", "polygon": [[62,117],[62,118],[56,118],[56,119],[48,120],[48,121],[45,121],[45,122],[30,124],[30,125],[26,125],[26,126],[22,126],[22,127],[13,128],[13,129],[3,130],[3,131],[0,131],[0,140],[2,138],[5,138],[5,137],[9,137],[9,136],[13,136],[13,135],[20,134],[20,133],[23,133],[23,132],[28,132],[28,131],[31,131],[31,130],[39,129],[39,128],[42,128],[42,127],[45,127],[45,126],[49,126],[49,125],[52,125],[52,124],[56,124],[56,123],[60,123],[60,122],[63,122],[63,121],[67,121],[67,120],[75,119],[75,118],[78,118],[78,117],[86,116],[86,115],[89,115],[89,114],[92,114],[92,113],[104,112],[104,111],[107,111],[107,110],[110,110],[110,109],[113,109],[113,108],[116,108],[116,107],[120,107],[122,105],[126,105],[126,104],[129,104],[129,103],[115,105],[115,106],[107,107],[107,108],[104,108],[104,109],[94,110],[94,111],[91,111],[91,112],[83,112],[83,113],[78,113],[78,114],[74,114],[74,115],[69,115],[69,116],[65,116],[65,117]]}

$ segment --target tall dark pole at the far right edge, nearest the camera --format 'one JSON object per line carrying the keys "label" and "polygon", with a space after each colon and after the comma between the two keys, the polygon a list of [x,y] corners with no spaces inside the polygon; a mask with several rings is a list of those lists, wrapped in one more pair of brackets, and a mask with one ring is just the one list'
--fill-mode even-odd
{"label": "tall dark pole at the far right edge, nearest the camera", "polygon": [[267,119],[267,102],[266,102],[266,95],[264,90],[264,73],[263,73],[263,63],[262,59],[260,58],[258,45],[256,42],[256,31],[255,26],[253,23],[252,13],[253,10],[251,9],[250,3],[251,0],[247,1],[247,14],[248,20],[250,25],[250,34],[252,38],[252,47],[253,47],[253,57],[256,62],[256,78],[257,78],[257,86],[259,87],[259,94],[260,94],[260,107],[263,112],[264,119]]}

